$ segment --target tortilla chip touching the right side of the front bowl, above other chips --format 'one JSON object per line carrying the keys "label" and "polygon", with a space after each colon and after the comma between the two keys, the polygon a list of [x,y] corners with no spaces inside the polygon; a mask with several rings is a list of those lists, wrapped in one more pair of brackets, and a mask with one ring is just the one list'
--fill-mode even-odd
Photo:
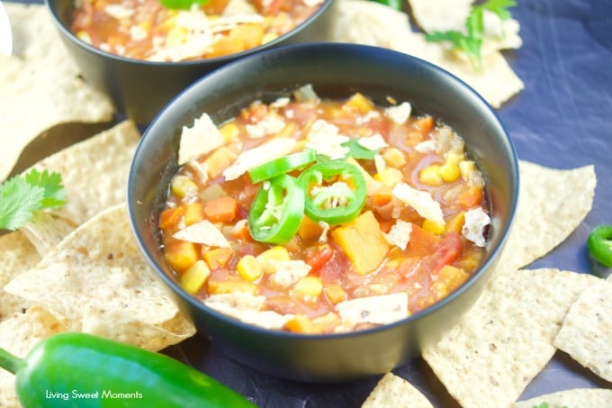
{"label": "tortilla chip touching the right side of the front bowl, above other chips", "polygon": [[517,216],[500,258],[512,272],[545,256],[590,212],[597,178],[593,166],[558,170],[519,161]]}

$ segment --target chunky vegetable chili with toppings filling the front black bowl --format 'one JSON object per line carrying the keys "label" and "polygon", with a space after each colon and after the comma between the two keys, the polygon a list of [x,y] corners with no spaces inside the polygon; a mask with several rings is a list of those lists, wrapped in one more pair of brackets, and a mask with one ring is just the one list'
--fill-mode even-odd
{"label": "chunky vegetable chili with toppings filling the front black bowl", "polygon": [[184,127],[159,218],[184,289],[243,322],[333,333],[399,321],[471,277],[484,177],[453,129],[388,103],[304,86]]}

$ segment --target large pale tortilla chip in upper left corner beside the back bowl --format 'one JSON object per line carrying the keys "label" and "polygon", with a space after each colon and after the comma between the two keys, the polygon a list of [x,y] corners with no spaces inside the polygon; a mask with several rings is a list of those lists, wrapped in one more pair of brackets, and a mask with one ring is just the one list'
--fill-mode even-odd
{"label": "large pale tortilla chip in upper left corner beside the back bowl", "polygon": [[14,29],[14,56],[0,56],[0,180],[23,148],[64,122],[111,122],[109,99],[79,76],[45,5],[4,5]]}

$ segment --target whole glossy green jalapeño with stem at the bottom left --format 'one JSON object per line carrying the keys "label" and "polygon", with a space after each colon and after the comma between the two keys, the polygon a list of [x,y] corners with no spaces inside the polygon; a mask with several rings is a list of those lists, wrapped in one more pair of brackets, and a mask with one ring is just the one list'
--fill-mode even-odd
{"label": "whole glossy green jalape\u00f1o with stem at the bottom left", "polygon": [[165,408],[255,407],[174,358],[80,332],[50,336],[25,358],[0,349],[0,367],[16,376],[17,396],[24,408],[130,403]]}

